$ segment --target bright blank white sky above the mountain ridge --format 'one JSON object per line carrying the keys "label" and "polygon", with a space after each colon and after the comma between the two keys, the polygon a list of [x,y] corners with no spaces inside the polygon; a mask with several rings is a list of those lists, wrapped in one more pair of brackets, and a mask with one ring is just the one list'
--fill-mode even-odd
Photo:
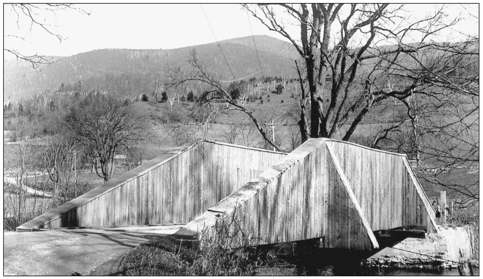
{"label": "bright blank white sky above the mountain ridge", "polygon": [[[40,27],[30,26],[29,21],[11,9],[4,9],[4,48],[59,56],[105,48],[172,49],[211,43],[214,36],[217,40],[251,36],[252,30],[254,35],[284,40],[248,16],[238,4],[76,4],[75,7],[90,14],[66,10],[41,11],[36,15],[40,22],[48,24],[49,30],[61,35],[62,41]],[[424,16],[434,11],[435,6],[412,4],[406,9],[408,14]],[[451,6],[446,11],[457,16],[465,9],[478,15],[478,5]],[[458,28],[478,34],[478,18],[464,20]],[[289,30],[299,32],[296,27]],[[10,57],[4,52],[4,58]]]}

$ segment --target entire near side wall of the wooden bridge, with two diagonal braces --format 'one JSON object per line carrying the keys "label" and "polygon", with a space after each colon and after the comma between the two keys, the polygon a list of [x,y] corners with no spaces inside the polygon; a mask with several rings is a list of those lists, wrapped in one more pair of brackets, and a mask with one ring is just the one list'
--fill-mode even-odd
{"label": "entire near side wall of the wooden bridge, with two diagonal braces", "polygon": [[220,224],[257,244],[324,238],[326,248],[370,250],[373,231],[427,226],[429,200],[404,155],[355,144],[309,139],[176,236],[214,234]]}

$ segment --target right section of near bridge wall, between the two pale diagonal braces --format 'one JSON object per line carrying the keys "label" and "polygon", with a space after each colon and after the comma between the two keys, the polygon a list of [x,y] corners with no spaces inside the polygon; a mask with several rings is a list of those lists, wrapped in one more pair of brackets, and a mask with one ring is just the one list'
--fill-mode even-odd
{"label": "right section of near bridge wall, between the two pale diagonal braces", "polygon": [[341,162],[373,231],[399,226],[436,231],[430,222],[435,212],[405,155],[335,140],[327,145]]}

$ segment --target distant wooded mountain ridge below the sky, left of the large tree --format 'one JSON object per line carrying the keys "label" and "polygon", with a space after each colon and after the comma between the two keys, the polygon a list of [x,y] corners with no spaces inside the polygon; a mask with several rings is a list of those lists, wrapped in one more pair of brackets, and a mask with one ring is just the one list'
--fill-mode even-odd
{"label": "distant wooded mountain ridge below the sky, left of the large tree", "polygon": [[[252,37],[220,41],[220,46],[237,79],[261,77]],[[297,77],[293,59],[298,57],[288,42],[270,36],[255,36],[264,76]],[[108,90],[118,93],[151,93],[156,80],[166,79],[170,66],[187,66],[195,49],[200,61],[220,80],[233,76],[216,42],[170,50],[104,49],[56,57],[56,61],[32,69],[24,61],[4,61],[4,99],[16,101],[33,93],[55,91],[61,84],[82,90]],[[80,82],[80,83],[79,83]]]}

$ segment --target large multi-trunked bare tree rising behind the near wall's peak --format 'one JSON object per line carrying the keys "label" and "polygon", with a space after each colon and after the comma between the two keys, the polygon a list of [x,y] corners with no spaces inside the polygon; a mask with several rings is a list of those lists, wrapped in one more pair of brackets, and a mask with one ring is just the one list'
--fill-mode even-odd
{"label": "large multi-trunked bare tree rising behind the near wall's peak", "polygon": [[[411,82],[406,82],[405,86],[393,90],[383,88],[383,68],[400,66],[400,59],[434,47],[439,32],[455,24],[442,9],[426,18],[413,20],[404,13],[403,6],[388,4],[244,7],[270,30],[290,40],[300,55],[296,66],[301,99],[307,99],[310,105],[310,108],[301,106],[300,109],[302,141],[309,137],[339,135],[349,140],[373,106],[388,98],[406,99],[425,90],[426,73],[423,72],[419,72],[416,79],[406,77]],[[279,16],[282,13],[298,23],[300,33],[288,32],[285,28],[288,23]],[[414,36],[421,40],[406,43],[407,38]],[[383,42],[394,46],[382,46]],[[392,71],[385,75],[404,77],[407,74]],[[307,80],[308,92],[303,89],[303,80]]]}

